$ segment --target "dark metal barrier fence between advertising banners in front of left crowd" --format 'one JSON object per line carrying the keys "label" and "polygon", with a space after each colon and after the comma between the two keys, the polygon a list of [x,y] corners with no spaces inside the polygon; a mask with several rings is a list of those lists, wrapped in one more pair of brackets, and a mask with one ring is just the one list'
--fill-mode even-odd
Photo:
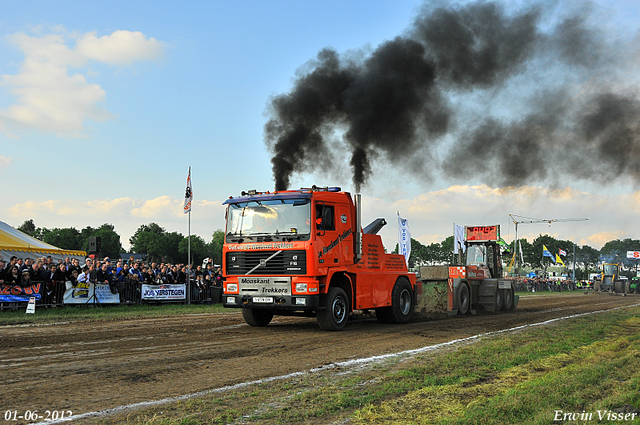
{"label": "dark metal barrier fence between advertising banners in front of left crowd", "polygon": [[[33,282],[33,285],[40,285],[38,294],[40,299],[36,300],[36,307],[63,307],[66,305],[82,305],[82,304],[64,304],[64,293],[67,290],[67,282]],[[110,285],[111,292],[117,293],[120,298],[120,304],[138,305],[142,303],[163,304],[167,302],[183,303],[188,301],[191,304],[220,304],[222,302],[222,286],[204,285],[199,287],[195,282],[190,285],[190,297],[185,300],[178,301],[147,301],[142,300],[142,284],[138,282],[125,281],[115,282]],[[16,310],[26,307],[27,301],[19,302],[0,302],[1,310]],[[88,305],[93,305],[88,303]]]}

